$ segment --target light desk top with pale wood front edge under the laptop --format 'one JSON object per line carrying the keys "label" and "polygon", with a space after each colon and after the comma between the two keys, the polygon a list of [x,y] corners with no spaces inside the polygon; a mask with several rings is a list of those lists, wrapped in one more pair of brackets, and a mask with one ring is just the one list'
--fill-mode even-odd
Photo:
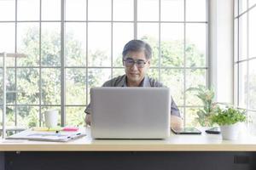
{"label": "light desk top with pale wood front edge under the laptop", "polygon": [[176,135],[169,139],[91,139],[87,136],[67,143],[0,140],[0,151],[256,151],[256,137],[222,140],[219,134]]}

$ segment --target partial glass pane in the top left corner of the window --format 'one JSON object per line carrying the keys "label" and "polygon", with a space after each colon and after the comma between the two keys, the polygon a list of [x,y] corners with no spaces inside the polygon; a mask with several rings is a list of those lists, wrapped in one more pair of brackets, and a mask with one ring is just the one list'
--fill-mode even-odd
{"label": "partial glass pane in the top left corner of the window", "polygon": [[0,1],[0,20],[15,20],[15,0]]}

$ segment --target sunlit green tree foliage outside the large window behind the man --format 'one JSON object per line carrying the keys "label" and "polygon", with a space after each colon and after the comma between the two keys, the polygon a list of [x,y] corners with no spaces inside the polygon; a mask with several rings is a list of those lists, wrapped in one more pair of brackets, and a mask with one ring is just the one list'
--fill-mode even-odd
{"label": "sunlit green tree foliage outside the large window behind the man", "polygon": [[[39,63],[44,66],[41,71],[38,68],[18,68],[17,69],[17,89],[16,93],[9,93],[8,104],[15,104],[15,95],[17,104],[32,105],[17,107],[17,122],[19,126],[33,127],[39,126],[39,99],[41,95],[42,113],[48,109],[56,108],[60,111],[61,105],[61,38],[60,34],[52,31],[44,31],[42,34],[41,59],[39,59],[39,32],[37,28],[29,28],[26,35],[21,39],[18,51],[27,54],[26,58],[17,59],[17,65],[24,67],[38,67]],[[153,37],[143,37],[153,48],[152,66],[175,66],[181,69],[166,69],[161,73],[161,81],[172,88],[172,96],[177,105],[183,104],[183,42],[161,42],[159,49],[158,40]],[[67,32],[65,44],[66,65],[68,66],[86,66],[85,51],[81,42],[73,37],[72,32]],[[159,63],[158,54],[161,50],[161,63]],[[205,57],[196,49],[195,45],[188,44],[185,48],[187,60],[190,65],[204,65]],[[101,50],[88,51],[88,63],[90,65],[103,65],[106,62],[106,53]],[[121,52],[117,60],[113,63],[121,63]],[[54,68],[47,68],[53,66]],[[102,86],[102,83],[110,77],[110,69],[88,69],[89,87]],[[191,69],[192,71],[196,71]],[[122,72],[122,73],[121,73]],[[203,72],[195,72],[189,76],[191,80],[202,77]],[[113,69],[113,74],[124,74],[120,69]],[[150,77],[158,79],[157,70],[149,71]],[[41,77],[41,82],[40,82]],[[86,104],[86,69],[84,68],[67,68],[66,69],[66,105],[85,105]],[[8,74],[8,91],[15,91],[15,71],[9,71]],[[193,81],[190,81],[193,82]],[[41,87],[40,87],[41,83]],[[204,84],[204,81],[199,81]],[[188,86],[196,85],[195,82]],[[0,85],[2,87],[2,85]],[[41,88],[41,89],[40,89]],[[88,92],[89,93],[89,92]],[[90,101],[90,95],[88,97]],[[34,105],[34,106],[33,106]],[[55,105],[55,106],[51,106]],[[66,107],[67,125],[84,126],[84,107],[72,106]],[[1,111],[0,111],[1,112]],[[8,107],[7,125],[15,125],[15,108]]]}

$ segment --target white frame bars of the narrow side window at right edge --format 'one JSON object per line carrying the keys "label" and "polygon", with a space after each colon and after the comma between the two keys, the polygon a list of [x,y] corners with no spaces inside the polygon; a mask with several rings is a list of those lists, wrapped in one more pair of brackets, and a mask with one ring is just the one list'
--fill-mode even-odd
{"label": "white frame bars of the narrow side window at right edge", "polygon": [[[250,99],[250,94],[249,92],[249,82],[250,82],[250,76],[249,76],[249,65],[251,62],[255,61],[256,56],[250,56],[248,54],[249,52],[249,37],[250,37],[250,32],[252,30],[249,30],[249,13],[252,10],[256,10],[256,3],[253,4],[251,7],[249,7],[249,0],[244,0],[247,3],[246,9],[241,11],[241,6],[242,6],[242,2],[241,0],[234,0],[234,75],[235,75],[235,81],[234,81],[234,103],[235,105],[237,105],[238,108],[243,109],[246,111],[247,116],[249,116],[249,112],[253,112],[256,113],[256,110],[250,109],[249,108],[249,99]],[[244,35],[240,34],[241,29],[241,22],[240,19],[241,17],[246,16],[246,42],[247,42],[247,47],[246,47],[246,56],[241,56],[240,55],[240,48],[242,45],[241,38]],[[240,83],[243,83],[242,81],[242,77],[241,77],[241,64],[246,65],[246,79],[247,81],[245,82],[245,92],[243,95],[245,95],[245,106],[241,106],[241,95],[240,95]],[[250,117],[250,116],[249,116]],[[250,121],[253,121],[255,123],[255,120],[247,120],[247,125],[248,123],[250,123]]]}

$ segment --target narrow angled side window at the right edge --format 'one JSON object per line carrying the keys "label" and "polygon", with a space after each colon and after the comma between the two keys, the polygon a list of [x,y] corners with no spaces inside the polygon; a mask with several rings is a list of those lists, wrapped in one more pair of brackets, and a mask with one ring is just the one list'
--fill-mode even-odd
{"label": "narrow angled side window at the right edge", "polygon": [[[235,72],[236,104],[247,110],[256,129],[256,1],[235,2]],[[253,132],[253,131],[252,131]]]}

